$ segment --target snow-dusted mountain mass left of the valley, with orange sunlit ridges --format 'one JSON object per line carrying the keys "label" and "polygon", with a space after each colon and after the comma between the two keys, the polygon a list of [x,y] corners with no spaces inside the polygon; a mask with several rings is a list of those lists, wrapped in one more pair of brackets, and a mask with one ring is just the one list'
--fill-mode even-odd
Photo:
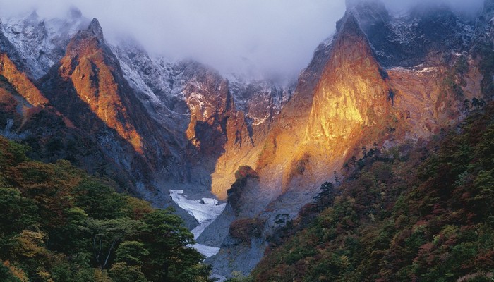
{"label": "snow-dusted mountain mass left of the valley, with orange sunlit ridges", "polygon": [[[33,147],[31,157],[68,159],[158,206],[174,205],[170,189],[210,195],[223,147],[251,143],[252,127],[270,123],[291,95],[272,82],[230,82],[195,61],[150,56],[131,40],[113,46],[97,20],[76,10],[67,19],[8,19],[0,35],[4,135]],[[19,99],[25,107],[12,111]]]}

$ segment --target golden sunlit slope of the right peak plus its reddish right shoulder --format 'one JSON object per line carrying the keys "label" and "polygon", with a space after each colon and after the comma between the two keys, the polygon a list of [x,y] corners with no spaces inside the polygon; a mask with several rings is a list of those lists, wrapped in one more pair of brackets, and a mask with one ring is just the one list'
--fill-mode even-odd
{"label": "golden sunlit slope of the right peak plus its reddish right shoulder", "polygon": [[[459,64],[466,64],[461,72]],[[347,13],[313,91],[299,87],[274,123],[254,130],[253,147],[225,147],[212,191],[226,197],[242,165],[258,172],[265,202],[289,191],[315,191],[362,147],[427,139],[464,116],[464,99],[479,92],[477,64],[431,53],[420,68],[384,69],[359,21]]]}

